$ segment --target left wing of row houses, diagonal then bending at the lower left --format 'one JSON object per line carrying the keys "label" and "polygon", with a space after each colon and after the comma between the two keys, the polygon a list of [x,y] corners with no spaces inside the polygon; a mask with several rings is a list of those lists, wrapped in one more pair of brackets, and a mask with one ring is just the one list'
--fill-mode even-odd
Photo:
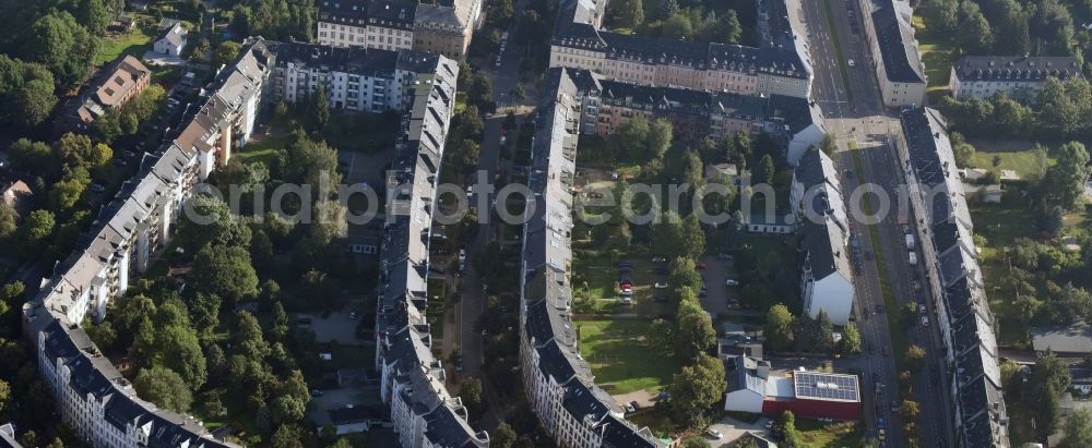
{"label": "left wing of row houses, diagonal then bending at the lower left", "polygon": [[39,373],[62,420],[90,445],[234,446],[193,419],[138,398],[80,325],[100,320],[109,301],[147,270],[169,242],[183,202],[211,171],[210,160],[226,162],[233,143],[246,142],[271,63],[264,41],[248,41],[209,86],[203,106],[183,119],[177,137],[145,156],[138,174],[80,237],[76,251],[23,306],[24,337],[35,348]]}

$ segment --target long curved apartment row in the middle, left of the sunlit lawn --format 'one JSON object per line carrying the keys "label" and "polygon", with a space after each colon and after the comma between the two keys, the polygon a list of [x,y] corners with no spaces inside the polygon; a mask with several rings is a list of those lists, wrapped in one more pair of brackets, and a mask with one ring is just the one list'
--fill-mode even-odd
{"label": "long curved apartment row in the middle, left of the sunlit lawn", "polygon": [[566,69],[550,69],[532,145],[520,277],[520,363],[527,400],[561,447],[663,447],[595,386],[571,320],[572,185],[580,97]]}

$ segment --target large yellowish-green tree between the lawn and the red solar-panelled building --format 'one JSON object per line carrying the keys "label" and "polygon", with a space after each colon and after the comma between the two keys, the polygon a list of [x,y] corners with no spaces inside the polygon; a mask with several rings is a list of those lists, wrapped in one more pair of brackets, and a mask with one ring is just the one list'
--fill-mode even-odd
{"label": "large yellowish-green tree between the lawn and the red solar-panelled building", "polygon": [[724,399],[724,363],[701,353],[672,378],[673,420],[686,427],[704,425],[705,415]]}

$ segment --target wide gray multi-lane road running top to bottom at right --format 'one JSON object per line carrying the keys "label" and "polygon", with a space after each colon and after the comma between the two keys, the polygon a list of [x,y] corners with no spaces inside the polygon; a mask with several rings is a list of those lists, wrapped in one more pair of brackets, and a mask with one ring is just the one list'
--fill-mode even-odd
{"label": "wide gray multi-lane road running top to bottom at right", "polygon": [[[854,26],[851,25],[850,11],[853,11],[855,27],[862,33],[863,24],[859,22],[859,10],[853,0],[830,0],[833,12],[834,26],[838,28],[839,39],[843,56],[854,60],[854,66],[848,66],[846,62],[846,75],[851,93],[846,93],[841,80],[838,56],[834,50],[833,39],[835,35],[827,21],[823,1],[805,1],[803,4],[803,17],[808,25],[810,51],[815,68],[816,81],[814,86],[814,97],[823,108],[828,117],[828,129],[835,133],[843,148],[848,146],[848,142],[854,142],[856,146],[863,148],[859,153],[863,165],[863,172],[855,175],[845,175],[846,169],[852,169],[853,157],[848,152],[839,155],[838,161],[843,173],[843,190],[852,192],[858,183],[875,183],[887,192],[888,197],[894,198],[895,189],[902,183],[902,175],[898,170],[894,149],[887,145],[886,135],[898,129],[898,121],[894,116],[882,107],[879,88],[876,83],[873,69],[874,61],[868,55],[868,48],[860,34],[852,33]],[[897,204],[897,202],[894,202]],[[847,202],[847,204],[850,204]],[[852,204],[850,205],[852,207]],[[910,219],[913,219],[912,217]],[[885,256],[887,273],[882,273],[891,280],[898,304],[915,301],[915,295],[922,295],[921,300],[928,304],[929,315],[933,316],[934,307],[928,298],[927,288],[923,288],[921,294],[915,294],[912,287],[913,274],[906,257],[905,238],[902,226],[899,223],[899,214],[893,211],[887,218],[877,223],[879,231],[879,247],[873,247],[868,238],[867,228],[857,225],[854,228],[855,238],[860,242],[863,253],[877,253],[881,251]],[[917,267],[919,268],[919,266]],[[890,352],[891,331],[906,331],[910,343],[916,343],[927,350],[927,368],[924,373],[914,378],[915,399],[921,404],[922,412],[918,416],[918,425],[923,428],[924,440],[936,446],[953,446],[952,444],[952,419],[951,403],[947,388],[943,386],[943,377],[939,374],[943,372],[940,360],[943,356],[943,347],[936,324],[928,328],[916,325],[912,329],[888,328],[888,313],[898,313],[899,310],[887,307],[885,314],[875,314],[877,305],[882,304],[882,295],[879,289],[879,276],[877,265],[871,261],[865,261],[862,269],[857,273],[857,303],[856,317],[857,326],[862,338],[866,344],[871,344],[871,353],[865,351],[860,358],[867,362],[860,363],[865,374],[865,397],[869,398],[871,405],[866,405],[866,427],[869,435],[876,434],[876,417],[885,417],[888,424],[888,440],[892,446],[901,446],[904,436],[901,434],[901,424],[895,423],[890,411],[890,402],[897,397],[897,376],[894,359],[892,356],[901,353]],[[921,276],[921,273],[918,273]],[[921,277],[924,278],[924,277]],[[888,355],[885,355],[887,348]],[[938,383],[931,383],[928,372],[938,373]],[[882,387],[879,391],[871,384],[873,374],[877,376]],[[869,404],[869,401],[866,401]]]}

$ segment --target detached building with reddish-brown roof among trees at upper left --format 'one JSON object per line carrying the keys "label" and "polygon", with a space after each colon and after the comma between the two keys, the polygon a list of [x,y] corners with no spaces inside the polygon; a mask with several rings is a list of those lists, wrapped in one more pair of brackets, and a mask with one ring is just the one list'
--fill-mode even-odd
{"label": "detached building with reddish-brown roof among trees at upper left", "polygon": [[99,69],[80,95],[68,100],[54,122],[60,133],[84,133],[110,110],[121,110],[152,81],[152,71],[132,56],[122,56]]}

